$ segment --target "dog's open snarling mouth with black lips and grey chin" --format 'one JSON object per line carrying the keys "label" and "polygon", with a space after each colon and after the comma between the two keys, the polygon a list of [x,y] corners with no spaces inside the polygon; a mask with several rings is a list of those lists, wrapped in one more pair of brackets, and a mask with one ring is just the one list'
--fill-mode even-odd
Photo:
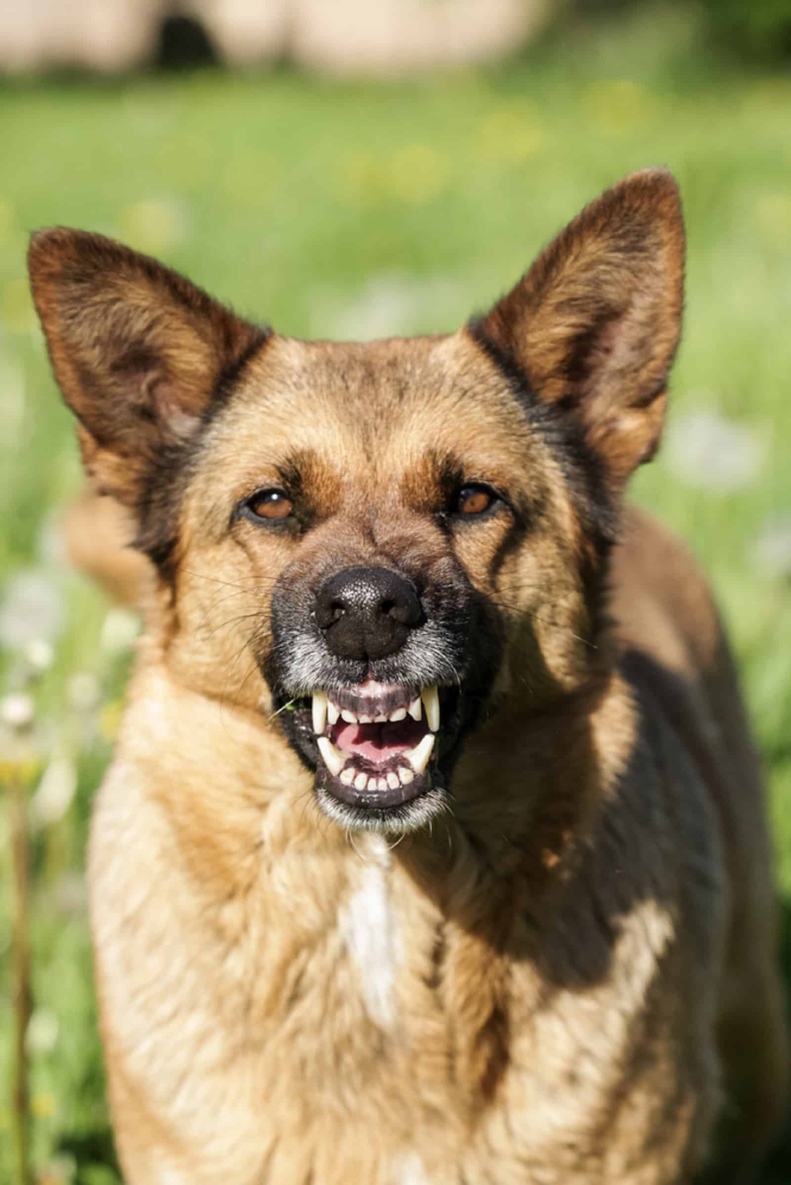
{"label": "dog's open snarling mouth with black lips and grey chin", "polygon": [[319,808],[345,830],[404,834],[449,808],[464,723],[460,687],[368,679],[283,704]]}

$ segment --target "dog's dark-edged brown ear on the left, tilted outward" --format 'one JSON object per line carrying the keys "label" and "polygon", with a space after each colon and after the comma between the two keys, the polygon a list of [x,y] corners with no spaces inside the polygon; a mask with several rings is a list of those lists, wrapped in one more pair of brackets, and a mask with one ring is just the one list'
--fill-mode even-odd
{"label": "dog's dark-edged brown ear on the left, tilted outward", "polygon": [[102,493],[139,507],[266,338],[148,256],[84,231],[33,235],[33,299],[83,461]]}

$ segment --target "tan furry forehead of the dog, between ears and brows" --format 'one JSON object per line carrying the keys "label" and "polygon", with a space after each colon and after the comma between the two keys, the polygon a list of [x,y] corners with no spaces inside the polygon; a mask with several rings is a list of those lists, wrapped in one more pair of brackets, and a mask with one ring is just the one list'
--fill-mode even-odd
{"label": "tan furry forehead of the dog, between ears and brows", "polygon": [[464,331],[372,342],[273,337],[248,366],[217,429],[240,467],[312,455],[403,468],[428,446],[487,465],[523,455],[524,410]]}

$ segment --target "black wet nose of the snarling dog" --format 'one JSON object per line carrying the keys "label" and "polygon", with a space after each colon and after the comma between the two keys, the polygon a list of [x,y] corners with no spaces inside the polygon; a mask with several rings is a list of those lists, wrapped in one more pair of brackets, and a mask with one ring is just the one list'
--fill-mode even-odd
{"label": "black wet nose of the snarling dog", "polygon": [[401,649],[422,615],[409,581],[387,568],[347,568],[326,582],[315,621],[342,659],[383,659]]}

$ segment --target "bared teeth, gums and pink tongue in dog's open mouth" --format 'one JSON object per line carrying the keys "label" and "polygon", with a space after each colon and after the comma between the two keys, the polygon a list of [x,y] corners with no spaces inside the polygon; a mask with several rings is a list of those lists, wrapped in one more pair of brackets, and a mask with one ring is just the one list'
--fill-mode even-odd
{"label": "bared teeth, gums and pink tongue in dog's open mouth", "polygon": [[312,697],[325,788],[351,806],[387,808],[417,798],[440,726],[436,686],[368,679]]}

